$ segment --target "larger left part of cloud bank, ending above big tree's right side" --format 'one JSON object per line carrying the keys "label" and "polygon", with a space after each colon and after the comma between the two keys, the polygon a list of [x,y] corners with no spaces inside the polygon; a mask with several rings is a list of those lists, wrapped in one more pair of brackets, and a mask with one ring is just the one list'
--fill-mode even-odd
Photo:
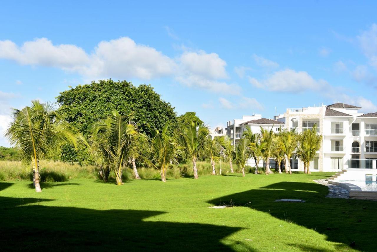
{"label": "larger left part of cloud bank, ending above big tree's right side", "polygon": [[175,62],[155,48],[136,44],[129,37],[98,43],[92,54],[75,45],[53,45],[46,38],[27,41],[18,47],[0,41],[0,58],[23,65],[42,65],[74,71],[88,78],[137,77],[149,80],[171,74]]}

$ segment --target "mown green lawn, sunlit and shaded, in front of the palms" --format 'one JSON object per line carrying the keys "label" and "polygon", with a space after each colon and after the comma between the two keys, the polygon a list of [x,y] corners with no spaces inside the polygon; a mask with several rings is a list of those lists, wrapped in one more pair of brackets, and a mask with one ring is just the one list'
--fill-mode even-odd
{"label": "mown green lawn, sunlit and shaded, in front of the palms", "polygon": [[[331,173],[0,182],[1,250],[375,251],[377,202],[325,198]],[[276,203],[276,199],[305,203]],[[234,207],[208,208],[221,203]]]}

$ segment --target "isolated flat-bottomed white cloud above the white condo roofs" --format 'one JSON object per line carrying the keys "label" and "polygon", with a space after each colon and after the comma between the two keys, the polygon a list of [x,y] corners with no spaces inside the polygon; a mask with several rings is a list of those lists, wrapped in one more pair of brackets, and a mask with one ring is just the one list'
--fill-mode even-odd
{"label": "isolated flat-bottomed white cloud above the white condo roofs", "polygon": [[325,80],[314,80],[313,77],[305,71],[296,72],[291,69],[276,71],[265,80],[257,80],[249,76],[249,82],[257,88],[284,92],[321,90],[328,85]]}

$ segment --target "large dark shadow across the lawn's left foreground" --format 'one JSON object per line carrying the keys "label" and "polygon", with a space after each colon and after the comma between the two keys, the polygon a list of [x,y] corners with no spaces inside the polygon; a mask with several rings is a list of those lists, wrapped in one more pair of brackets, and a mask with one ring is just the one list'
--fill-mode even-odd
{"label": "large dark shadow across the lawn's left foreground", "polygon": [[[221,243],[240,227],[148,221],[164,212],[21,206],[0,197],[2,250],[230,251]],[[39,199],[23,199],[23,204]]]}

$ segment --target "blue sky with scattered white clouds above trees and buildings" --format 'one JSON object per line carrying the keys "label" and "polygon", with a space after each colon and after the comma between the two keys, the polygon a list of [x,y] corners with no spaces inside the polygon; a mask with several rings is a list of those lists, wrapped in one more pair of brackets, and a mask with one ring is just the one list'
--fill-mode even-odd
{"label": "blue sky with scattered white clouds above trees and buildings", "polygon": [[2,3],[1,134],[10,107],[107,78],[212,127],[322,102],[377,111],[375,2],[77,2]]}

